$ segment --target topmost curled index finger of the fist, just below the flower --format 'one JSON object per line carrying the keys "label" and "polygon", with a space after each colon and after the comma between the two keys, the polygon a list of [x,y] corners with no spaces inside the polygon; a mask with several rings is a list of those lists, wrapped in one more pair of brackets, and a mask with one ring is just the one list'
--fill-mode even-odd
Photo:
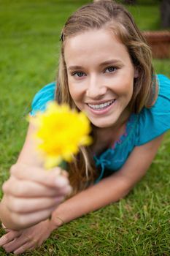
{"label": "topmost curled index finger of the fist, just below the flower", "polygon": [[55,167],[45,171],[40,167],[16,164],[11,167],[11,174],[19,179],[36,181],[49,187],[64,187],[69,184],[68,178],[61,176],[61,168]]}

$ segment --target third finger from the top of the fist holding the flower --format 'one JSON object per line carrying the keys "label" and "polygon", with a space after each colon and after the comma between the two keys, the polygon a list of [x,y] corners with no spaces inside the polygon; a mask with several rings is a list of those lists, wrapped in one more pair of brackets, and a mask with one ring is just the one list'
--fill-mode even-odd
{"label": "third finger from the top of the fist holding the flower", "polygon": [[22,198],[22,197],[8,197],[9,211],[28,214],[35,211],[41,211],[43,209],[57,207],[59,203],[62,203],[65,196],[58,197],[39,197],[39,198]]}

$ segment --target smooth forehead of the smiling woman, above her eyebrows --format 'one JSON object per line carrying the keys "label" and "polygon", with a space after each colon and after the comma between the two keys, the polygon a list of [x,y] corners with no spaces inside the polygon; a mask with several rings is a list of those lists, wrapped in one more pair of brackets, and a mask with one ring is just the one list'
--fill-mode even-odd
{"label": "smooth forehead of the smiling woman, above her eyebrows", "polygon": [[64,59],[66,66],[71,64],[88,64],[106,59],[129,61],[130,56],[125,45],[115,34],[107,29],[85,31],[66,39]]}

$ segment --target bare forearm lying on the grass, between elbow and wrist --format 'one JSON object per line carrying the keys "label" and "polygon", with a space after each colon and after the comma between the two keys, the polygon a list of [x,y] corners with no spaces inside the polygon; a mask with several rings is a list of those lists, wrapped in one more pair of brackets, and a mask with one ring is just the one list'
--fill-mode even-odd
{"label": "bare forearm lying on the grass, between elbow and wrist", "polygon": [[84,214],[88,214],[90,211],[96,211],[98,208],[120,200],[120,198],[128,194],[131,187],[132,184],[125,177],[120,177],[120,175],[115,174],[114,176],[104,178],[98,184],[61,203],[53,211],[53,222],[56,225],[62,225],[58,217],[66,223]]}

